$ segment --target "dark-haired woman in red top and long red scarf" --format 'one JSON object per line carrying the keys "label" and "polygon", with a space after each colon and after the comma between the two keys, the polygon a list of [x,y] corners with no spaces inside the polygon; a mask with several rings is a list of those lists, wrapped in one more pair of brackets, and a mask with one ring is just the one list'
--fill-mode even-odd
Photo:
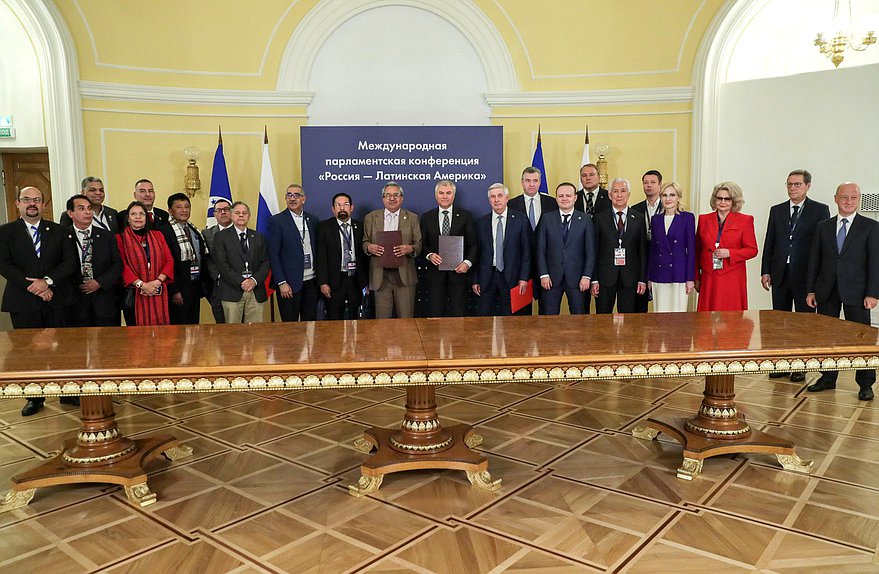
{"label": "dark-haired woman in red top and long red scarf", "polygon": [[[168,325],[167,281],[174,279],[174,260],[159,231],[146,228],[146,207],[132,201],[128,225],[116,236],[122,255],[122,282],[126,288],[126,325]],[[133,295],[133,308],[129,307]],[[134,319],[133,323],[130,319]]]}

